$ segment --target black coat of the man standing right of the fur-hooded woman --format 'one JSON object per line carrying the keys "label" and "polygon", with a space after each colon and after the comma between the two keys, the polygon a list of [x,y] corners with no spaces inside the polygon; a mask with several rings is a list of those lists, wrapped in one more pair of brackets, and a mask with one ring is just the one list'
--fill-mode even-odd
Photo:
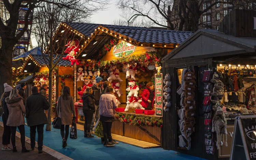
{"label": "black coat of the man standing right of the fur-hooded woman", "polygon": [[26,119],[28,127],[47,124],[48,120],[44,110],[48,110],[50,104],[40,93],[33,93],[26,101]]}

